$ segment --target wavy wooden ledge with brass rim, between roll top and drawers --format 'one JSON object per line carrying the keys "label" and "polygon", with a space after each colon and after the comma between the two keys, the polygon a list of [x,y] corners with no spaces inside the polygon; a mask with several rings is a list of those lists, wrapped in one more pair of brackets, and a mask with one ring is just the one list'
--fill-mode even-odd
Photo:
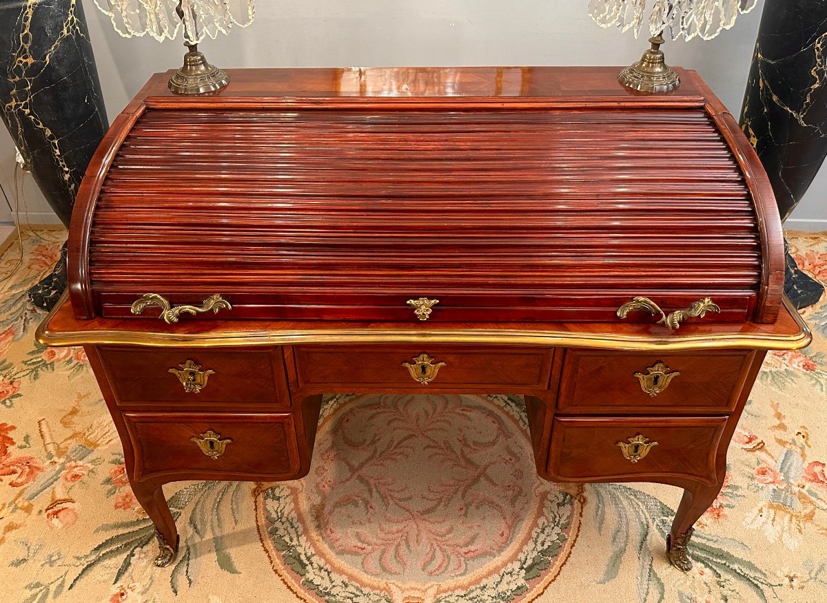
{"label": "wavy wooden ledge with brass rim, between roll top and drawers", "polygon": [[625,323],[378,323],[347,320],[181,320],[74,318],[64,297],[36,332],[41,344],[129,344],[154,347],[262,346],[321,343],[432,343],[566,346],[591,349],[801,349],[812,335],[785,298],[772,324],[696,323],[679,331]]}

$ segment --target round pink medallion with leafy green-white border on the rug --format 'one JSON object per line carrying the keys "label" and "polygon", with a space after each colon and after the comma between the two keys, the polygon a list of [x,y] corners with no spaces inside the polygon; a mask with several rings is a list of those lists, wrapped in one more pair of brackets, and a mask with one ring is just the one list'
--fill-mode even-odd
{"label": "round pink medallion with leafy green-white border on the rug", "polygon": [[519,398],[334,396],[316,446],[308,477],[256,492],[305,601],[532,601],[571,553],[581,489],[537,476]]}

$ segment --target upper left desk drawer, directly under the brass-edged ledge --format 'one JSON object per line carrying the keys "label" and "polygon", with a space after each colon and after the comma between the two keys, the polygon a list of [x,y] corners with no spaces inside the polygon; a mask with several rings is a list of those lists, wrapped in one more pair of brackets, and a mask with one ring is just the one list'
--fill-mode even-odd
{"label": "upper left desk drawer, directly under the brass-edged ledge", "polygon": [[280,348],[104,346],[100,355],[120,404],[290,404]]}

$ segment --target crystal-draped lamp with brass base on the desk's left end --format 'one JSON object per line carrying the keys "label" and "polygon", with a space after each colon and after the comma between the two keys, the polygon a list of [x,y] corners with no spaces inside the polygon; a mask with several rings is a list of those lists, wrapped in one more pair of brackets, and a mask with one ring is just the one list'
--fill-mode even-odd
{"label": "crystal-draped lamp with brass base on the desk's left end", "polygon": [[227,35],[233,25],[246,27],[256,16],[255,0],[95,0],[125,38],[146,36],[174,40],[183,31],[184,66],[170,78],[170,90],[180,94],[213,92],[227,85],[230,77],[207,62],[198,43],[219,33]]}

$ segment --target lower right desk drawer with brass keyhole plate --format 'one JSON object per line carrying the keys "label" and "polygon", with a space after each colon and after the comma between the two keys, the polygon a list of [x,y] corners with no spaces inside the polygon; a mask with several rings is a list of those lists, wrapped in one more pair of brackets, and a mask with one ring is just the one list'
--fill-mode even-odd
{"label": "lower right desk drawer with brass keyhole plate", "polygon": [[548,472],[563,482],[689,477],[712,485],[715,454],[727,420],[556,417]]}

